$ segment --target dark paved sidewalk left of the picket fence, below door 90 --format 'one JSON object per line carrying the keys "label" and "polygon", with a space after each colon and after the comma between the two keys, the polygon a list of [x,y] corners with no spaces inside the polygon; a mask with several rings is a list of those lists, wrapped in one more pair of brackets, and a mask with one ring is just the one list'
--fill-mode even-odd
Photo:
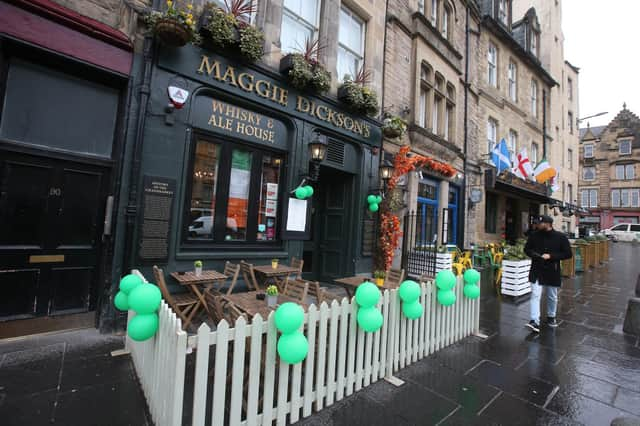
{"label": "dark paved sidewalk left of the picket fence, below door 90", "polygon": [[0,424],[150,425],[123,346],[95,329],[0,341]]}

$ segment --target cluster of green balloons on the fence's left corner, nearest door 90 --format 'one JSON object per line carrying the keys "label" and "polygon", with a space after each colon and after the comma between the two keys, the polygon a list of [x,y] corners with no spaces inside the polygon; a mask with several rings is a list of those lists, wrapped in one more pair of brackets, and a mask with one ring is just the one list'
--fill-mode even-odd
{"label": "cluster of green balloons on the fence's left corner, nearest door 90", "polygon": [[153,284],[144,284],[142,278],[129,274],[120,280],[120,291],[113,304],[121,311],[131,309],[136,316],[129,321],[127,333],[136,342],[150,339],[158,331],[158,314],[162,293]]}

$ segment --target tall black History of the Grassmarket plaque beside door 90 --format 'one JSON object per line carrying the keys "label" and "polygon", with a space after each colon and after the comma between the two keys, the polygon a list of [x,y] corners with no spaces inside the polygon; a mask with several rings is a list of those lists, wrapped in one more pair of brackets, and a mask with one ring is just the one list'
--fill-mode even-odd
{"label": "tall black History of the Grassmarket plaque beside door 90", "polygon": [[166,263],[169,259],[169,228],[175,191],[175,179],[144,176],[142,226],[138,238],[138,258],[142,263]]}

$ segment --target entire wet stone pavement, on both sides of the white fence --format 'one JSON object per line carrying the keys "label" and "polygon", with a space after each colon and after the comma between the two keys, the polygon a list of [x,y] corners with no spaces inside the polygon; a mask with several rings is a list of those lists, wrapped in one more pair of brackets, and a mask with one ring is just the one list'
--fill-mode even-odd
{"label": "entire wet stone pavement, on both sides of the white fence", "polygon": [[[640,262],[611,261],[560,292],[559,327],[531,334],[528,303],[483,296],[482,340],[467,338],[379,381],[300,425],[609,425],[640,421],[640,346],[622,333]],[[543,309],[542,312],[545,312]],[[80,330],[0,341],[0,424],[151,425],[121,336]]]}

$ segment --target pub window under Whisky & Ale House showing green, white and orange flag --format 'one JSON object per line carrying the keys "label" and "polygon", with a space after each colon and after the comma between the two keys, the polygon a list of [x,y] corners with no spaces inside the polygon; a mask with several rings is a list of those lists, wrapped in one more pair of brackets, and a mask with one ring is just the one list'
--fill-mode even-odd
{"label": "pub window under Whisky & Ale House showing green, white and orange flag", "polygon": [[187,200],[188,242],[278,240],[282,156],[255,147],[198,139]]}

